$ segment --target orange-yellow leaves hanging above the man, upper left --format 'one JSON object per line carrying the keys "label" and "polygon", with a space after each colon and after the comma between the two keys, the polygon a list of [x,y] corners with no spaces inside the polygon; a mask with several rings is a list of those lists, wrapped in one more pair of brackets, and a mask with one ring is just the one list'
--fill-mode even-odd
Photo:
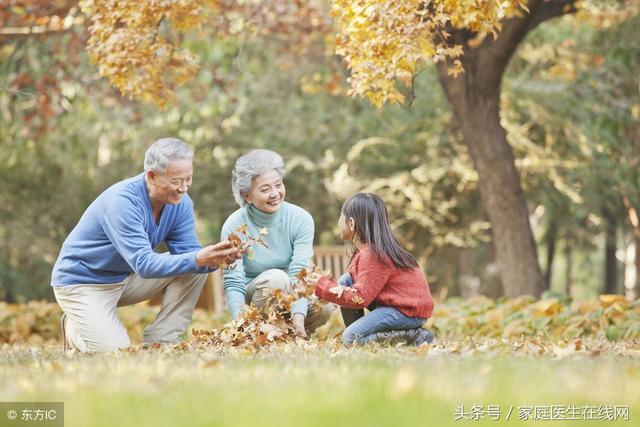
{"label": "orange-yellow leaves hanging above the man, upper left", "polygon": [[87,49],[120,93],[165,106],[191,79],[197,58],[181,46],[185,34],[207,27],[212,37],[288,33],[304,43],[326,27],[317,9],[294,1],[84,0],[91,19]]}

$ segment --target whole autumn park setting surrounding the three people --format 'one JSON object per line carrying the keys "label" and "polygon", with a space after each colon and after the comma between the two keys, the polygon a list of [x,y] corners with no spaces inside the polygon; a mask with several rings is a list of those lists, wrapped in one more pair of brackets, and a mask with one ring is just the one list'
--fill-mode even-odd
{"label": "whole autumn park setting surrounding the three people", "polygon": [[[500,2],[425,2],[453,9],[444,27],[464,55],[421,57],[396,31],[419,3],[2,2],[0,397],[64,398],[71,425],[444,425],[461,404],[527,402],[626,403],[634,419],[640,5],[504,2],[521,18],[497,28]],[[354,17],[372,28],[348,33]],[[341,243],[349,195],[382,196],[436,296],[435,346],[62,354],[57,306],[38,302],[54,301],[60,246],[165,136],[195,149],[202,243],[237,209],[231,169],[253,148],[285,158],[286,199],[313,215],[316,245]],[[134,340],[153,313],[123,309]]]}

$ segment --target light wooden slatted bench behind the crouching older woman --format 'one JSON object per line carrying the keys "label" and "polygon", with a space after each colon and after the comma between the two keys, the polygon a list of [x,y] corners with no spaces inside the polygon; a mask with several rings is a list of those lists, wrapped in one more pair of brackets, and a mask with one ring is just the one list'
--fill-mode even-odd
{"label": "light wooden slatted bench behind the crouching older woman", "polygon": [[[349,257],[345,246],[315,246],[313,248],[313,263],[322,270],[329,270],[334,278],[338,278],[347,271]],[[150,305],[159,305],[162,295],[156,295],[149,300]],[[197,308],[204,308],[214,316],[220,316],[227,308],[224,298],[224,279],[222,270],[216,270],[207,276],[204,289],[196,303]]]}

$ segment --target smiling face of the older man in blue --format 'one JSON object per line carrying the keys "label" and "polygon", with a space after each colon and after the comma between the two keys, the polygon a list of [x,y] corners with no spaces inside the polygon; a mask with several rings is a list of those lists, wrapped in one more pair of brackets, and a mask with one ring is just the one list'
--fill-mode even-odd
{"label": "smiling face of the older man in blue", "polygon": [[148,171],[147,177],[150,183],[150,199],[154,202],[177,205],[191,187],[193,162],[176,160],[169,164],[165,172]]}

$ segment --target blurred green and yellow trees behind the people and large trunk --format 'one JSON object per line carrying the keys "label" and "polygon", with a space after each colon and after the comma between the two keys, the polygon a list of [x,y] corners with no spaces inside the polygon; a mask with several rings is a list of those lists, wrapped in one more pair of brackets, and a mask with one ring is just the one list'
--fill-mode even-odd
{"label": "blurred green and yellow trees behind the people and large trunk", "polygon": [[[143,3],[157,6],[147,11],[155,19],[136,15]],[[251,148],[266,147],[287,160],[287,198],[314,216],[316,243],[339,241],[335,222],[346,197],[375,191],[434,289],[464,293],[459,279],[474,276],[482,286],[495,285],[496,295],[504,291],[477,167],[439,84],[443,74],[460,71],[455,61],[465,68],[458,77],[469,75],[464,57],[449,46],[452,51],[438,58],[441,69],[416,65],[430,51],[415,56],[412,66],[396,63],[386,80],[408,86],[380,91],[391,97],[385,100],[403,98],[406,105],[378,110],[347,96],[370,94],[347,80],[354,78],[352,62],[334,48],[350,49],[351,39],[332,31],[324,2],[256,4],[124,2],[121,15],[105,17],[117,31],[103,29],[98,36],[91,26],[105,10],[99,8],[111,2],[85,2],[82,10],[70,1],[2,6],[1,298],[50,298],[52,263],[86,206],[113,182],[138,173],[146,146],[168,135],[196,150],[190,192],[203,242],[217,240],[222,222],[237,208],[230,194],[233,162]],[[209,14],[192,16],[197,8]],[[606,28],[570,16],[532,31],[515,51],[499,97],[500,125],[521,177],[516,183],[530,208],[527,224],[531,214],[533,236],[545,254],[546,287],[578,284],[571,289],[575,295],[605,290],[606,278],[593,273],[623,268],[616,248],[640,250],[637,241],[633,246],[640,209],[638,17],[623,9],[606,15]],[[526,10],[509,13],[516,12]],[[483,31],[497,31],[500,21],[489,18],[482,20]],[[147,30],[130,34],[135,25]],[[455,34],[451,25],[442,22],[442,30]],[[92,37],[114,34],[120,34],[111,40],[124,49],[120,56],[92,50]],[[127,50],[149,42],[166,43],[161,55],[144,59]],[[431,58],[438,55],[434,46]],[[100,55],[129,67],[123,71],[129,74],[114,81]],[[107,80],[96,76],[92,60]],[[145,85],[152,85],[151,92]],[[154,90],[162,94],[157,104],[163,108],[148,95]],[[380,91],[372,96],[383,96]],[[613,267],[605,244],[611,227],[617,238]],[[561,244],[565,252],[554,256]],[[552,277],[554,265],[564,277]],[[621,282],[614,278],[609,291],[620,292]]]}

